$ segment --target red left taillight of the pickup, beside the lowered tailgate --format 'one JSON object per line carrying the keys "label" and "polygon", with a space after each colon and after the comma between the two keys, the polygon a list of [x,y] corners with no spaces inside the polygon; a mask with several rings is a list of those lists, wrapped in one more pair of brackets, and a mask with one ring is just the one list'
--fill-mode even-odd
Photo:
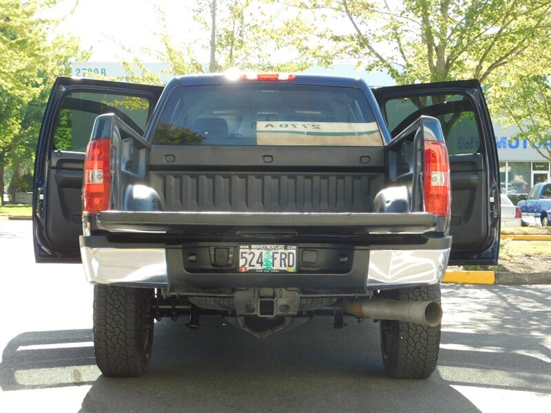
{"label": "red left taillight of the pickup, beside the lowered tailgate", "polygon": [[111,199],[111,139],[91,140],[84,160],[83,211],[109,209]]}

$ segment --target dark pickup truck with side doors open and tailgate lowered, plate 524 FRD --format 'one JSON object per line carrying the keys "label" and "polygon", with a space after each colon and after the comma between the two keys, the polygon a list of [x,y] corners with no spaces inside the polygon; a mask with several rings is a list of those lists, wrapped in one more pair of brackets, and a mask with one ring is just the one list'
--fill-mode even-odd
{"label": "dark pickup truck with side doors open and tailgate lowered, plate 524 FRD", "polygon": [[107,376],[144,372],[154,319],[218,315],[263,338],[324,315],[379,321],[386,372],[426,378],[448,262],[497,261],[497,165],[477,81],[59,78],[34,251],[83,262]]}

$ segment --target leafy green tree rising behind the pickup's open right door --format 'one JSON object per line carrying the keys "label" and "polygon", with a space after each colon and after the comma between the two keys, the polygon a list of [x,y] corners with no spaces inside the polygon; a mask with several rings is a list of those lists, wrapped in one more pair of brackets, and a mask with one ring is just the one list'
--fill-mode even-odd
{"label": "leafy green tree rising behind the pickup's open right door", "polygon": [[519,128],[519,137],[548,140],[550,0],[295,0],[293,6],[322,21],[303,25],[331,44],[315,51],[320,63],[353,59],[398,84],[478,78],[492,109]]}

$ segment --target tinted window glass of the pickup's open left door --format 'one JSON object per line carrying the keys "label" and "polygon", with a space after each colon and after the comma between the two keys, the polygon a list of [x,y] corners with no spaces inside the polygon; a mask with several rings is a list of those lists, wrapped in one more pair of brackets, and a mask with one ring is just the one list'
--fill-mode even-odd
{"label": "tinted window glass of the pickup's open left door", "polygon": [[143,135],[151,107],[146,98],[98,92],[70,92],[61,105],[54,147],[77,152],[86,150],[96,116],[114,113]]}

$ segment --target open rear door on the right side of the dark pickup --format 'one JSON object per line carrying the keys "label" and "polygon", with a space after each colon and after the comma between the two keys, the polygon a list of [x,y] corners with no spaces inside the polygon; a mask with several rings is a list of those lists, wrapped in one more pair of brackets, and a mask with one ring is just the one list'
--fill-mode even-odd
{"label": "open rear door on the right side of the dark pickup", "polygon": [[499,253],[497,147],[480,83],[374,88],[394,137],[419,116],[440,120],[450,156],[453,246],[449,264],[496,264]]}

